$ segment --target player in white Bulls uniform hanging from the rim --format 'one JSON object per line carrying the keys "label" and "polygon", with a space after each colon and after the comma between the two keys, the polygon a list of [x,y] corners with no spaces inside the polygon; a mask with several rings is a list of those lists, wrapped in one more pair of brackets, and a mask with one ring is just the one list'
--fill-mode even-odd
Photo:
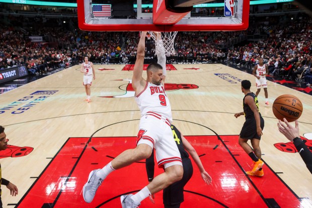
{"label": "player in white Bulls uniform hanging from the rim", "polygon": [[[96,190],[108,174],[133,162],[148,158],[153,148],[156,150],[158,166],[164,167],[166,171],[155,177],[136,194],[122,195],[120,197],[122,207],[136,207],[144,198],[182,179],[182,160],[178,147],[172,138],[170,128],[172,122],[171,106],[164,88],[166,55],[165,52],[157,54],[158,63],[148,65],[145,80],[142,77],[145,37],[146,32],[142,32],[137,46],[132,76],[132,87],[135,90],[135,99],[141,112],[137,146],[135,149],[122,152],[104,168],[91,171],[88,182],[83,188],[83,196],[86,202],[90,203],[93,200]],[[157,44],[162,44],[162,40],[159,41]]]}

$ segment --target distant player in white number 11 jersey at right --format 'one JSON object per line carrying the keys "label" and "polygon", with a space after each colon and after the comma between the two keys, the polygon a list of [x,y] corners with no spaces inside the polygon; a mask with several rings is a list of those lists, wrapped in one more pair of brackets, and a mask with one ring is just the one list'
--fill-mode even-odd
{"label": "distant player in white number 11 jersey at right", "polygon": [[258,96],[262,86],[265,95],[265,105],[269,106],[268,90],[267,90],[268,84],[266,79],[266,75],[269,75],[269,70],[268,66],[263,63],[263,58],[259,58],[259,64],[257,64],[254,67],[253,75],[256,77],[256,87],[257,87],[256,96]]}

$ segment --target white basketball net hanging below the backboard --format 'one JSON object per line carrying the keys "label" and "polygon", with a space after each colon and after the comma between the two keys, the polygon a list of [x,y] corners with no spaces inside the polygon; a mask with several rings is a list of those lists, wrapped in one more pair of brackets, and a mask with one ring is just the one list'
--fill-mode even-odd
{"label": "white basketball net hanging below the backboard", "polygon": [[149,31],[148,33],[150,34],[151,38],[155,41],[155,50],[157,53],[166,54],[167,56],[176,54],[174,42],[178,31],[163,32],[159,36],[157,36],[151,31]]}

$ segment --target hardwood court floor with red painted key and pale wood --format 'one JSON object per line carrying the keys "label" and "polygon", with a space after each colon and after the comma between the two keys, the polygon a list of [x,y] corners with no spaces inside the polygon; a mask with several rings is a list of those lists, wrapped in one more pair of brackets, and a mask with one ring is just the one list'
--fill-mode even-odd
{"label": "hardwood court floor with red painted key and pale wood", "polygon": [[[140,113],[129,83],[132,71],[122,70],[124,66],[95,65],[91,103],[84,102],[79,65],[0,94],[0,125],[12,145],[0,152],[2,175],[19,188],[18,196],[12,197],[3,186],[4,207],[120,207],[120,194],[146,185],[144,164],[135,163],[112,173],[92,203],[85,203],[81,195],[91,170],[135,147]],[[243,110],[240,81],[251,80],[256,91],[254,76],[222,64],[179,64],[170,69],[166,93],[174,124],[201,155],[213,180],[204,185],[193,163],[181,207],[312,207],[312,175],[278,132],[263,90],[259,104],[265,120],[265,175],[245,174],[251,159],[237,143],[245,119],[233,115]],[[312,146],[312,97],[270,81],[268,92],[270,103],[281,94],[301,100],[300,136]],[[145,199],[140,207],[162,207],[161,198],[158,193],[156,204]]]}

